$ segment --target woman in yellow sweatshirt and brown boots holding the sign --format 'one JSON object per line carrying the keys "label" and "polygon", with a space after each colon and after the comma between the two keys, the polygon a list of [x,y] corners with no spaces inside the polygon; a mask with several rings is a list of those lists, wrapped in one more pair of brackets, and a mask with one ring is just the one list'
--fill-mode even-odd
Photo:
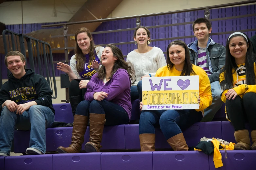
{"label": "woman in yellow sweatshirt and brown boots holding the sign", "polygon": [[[160,128],[174,150],[188,150],[182,131],[203,118],[204,109],[212,101],[210,80],[206,72],[190,63],[189,50],[185,42],[176,40],[167,47],[167,65],[157,70],[155,77],[199,76],[199,109],[143,110],[139,120],[141,151],[155,150],[155,126]],[[140,108],[142,108],[140,102]]]}

